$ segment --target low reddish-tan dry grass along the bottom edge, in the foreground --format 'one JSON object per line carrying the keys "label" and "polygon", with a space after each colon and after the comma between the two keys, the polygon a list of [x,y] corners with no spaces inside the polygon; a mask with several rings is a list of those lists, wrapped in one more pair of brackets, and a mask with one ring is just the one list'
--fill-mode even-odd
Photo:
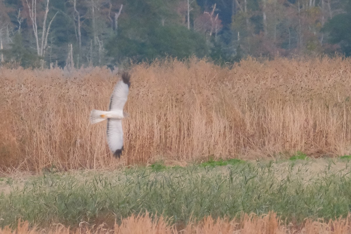
{"label": "low reddish-tan dry grass along the bottom edge, in the foreground", "polygon": [[184,228],[169,225],[167,220],[151,218],[148,213],[131,215],[122,219],[121,224],[108,228],[104,224],[89,227],[85,222],[79,228],[65,227],[61,224],[53,225],[49,229],[31,228],[27,221],[19,222],[16,229],[8,226],[0,228],[0,234],[346,234],[351,232],[350,214],[346,218],[335,220],[313,221],[306,219],[301,227],[291,223],[286,225],[276,213],[257,216],[256,214],[242,214],[240,220],[213,219],[208,216],[199,223],[191,223]]}

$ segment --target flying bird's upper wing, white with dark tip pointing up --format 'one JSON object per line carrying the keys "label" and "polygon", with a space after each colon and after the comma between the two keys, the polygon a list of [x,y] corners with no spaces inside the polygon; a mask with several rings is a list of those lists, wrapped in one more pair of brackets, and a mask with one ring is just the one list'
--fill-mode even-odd
{"label": "flying bird's upper wing, white with dark tip pointing up", "polygon": [[128,73],[122,74],[122,80],[119,81],[113,89],[109,111],[123,111],[124,104],[127,101],[130,86],[130,75]]}

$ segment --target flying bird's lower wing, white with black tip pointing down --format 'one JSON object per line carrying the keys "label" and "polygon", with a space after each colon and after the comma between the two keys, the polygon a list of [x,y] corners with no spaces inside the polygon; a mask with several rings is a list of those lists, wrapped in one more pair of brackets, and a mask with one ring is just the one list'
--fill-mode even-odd
{"label": "flying bird's lower wing, white with black tip pointing down", "polygon": [[107,143],[113,156],[119,158],[123,150],[123,129],[121,119],[107,119]]}

